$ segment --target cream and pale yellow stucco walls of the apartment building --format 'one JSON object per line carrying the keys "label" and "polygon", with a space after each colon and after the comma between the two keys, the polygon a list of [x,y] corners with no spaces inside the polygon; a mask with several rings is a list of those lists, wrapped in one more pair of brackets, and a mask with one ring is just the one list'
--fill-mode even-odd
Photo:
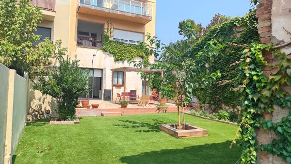
{"label": "cream and pale yellow stucco walls of the apartment building", "polygon": [[[138,0],[139,1],[139,0]],[[54,11],[42,10],[44,20],[38,25],[39,27],[51,28],[51,40],[62,40],[62,47],[68,49],[68,55],[71,58],[77,56],[80,60],[80,67],[90,69],[102,69],[102,99],[104,98],[104,90],[112,89],[112,71],[118,67],[133,67],[128,61],[114,62],[113,55],[110,52],[103,52],[100,49],[84,48],[77,46],[78,21],[86,21],[92,23],[103,24],[104,29],[108,28],[110,22],[114,29],[125,30],[130,32],[150,33],[155,35],[156,21],[156,0],[140,0],[151,5],[151,20],[147,23],[139,21],[128,21],[125,18],[113,18],[107,16],[97,16],[91,13],[78,12],[79,0],[55,0]],[[94,12],[93,12],[94,13]],[[110,16],[110,15],[109,15]],[[134,17],[134,16],[133,16]],[[112,39],[112,38],[111,38]],[[96,56],[93,58],[93,54]],[[92,64],[93,60],[93,64]],[[136,57],[135,60],[142,60]],[[154,62],[154,56],[150,57],[150,62]],[[142,79],[137,72],[129,72],[126,77],[126,91],[136,90],[137,94],[142,95]],[[113,97],[115,100],[116,93],[121,93],[123,87],[113,88]],[[30,113],[35,111],[50,111],[56,109],[53,98],[41,94],[39,91],[30,89]]]}

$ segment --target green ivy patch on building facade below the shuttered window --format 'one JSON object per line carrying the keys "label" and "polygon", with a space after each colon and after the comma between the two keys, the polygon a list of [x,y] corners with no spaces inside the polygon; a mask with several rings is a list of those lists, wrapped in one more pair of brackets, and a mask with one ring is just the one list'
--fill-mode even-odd
{"label": "green ivy patch on building facade below the shuttered window", "polygon": [[145,55],[142,45],[126,44],[109,39],[108,35],[104,35],[101,50],[108,51],[113,54],[114,61],[131,61],[135,57],[140,57],[148,63],[149,56]]}

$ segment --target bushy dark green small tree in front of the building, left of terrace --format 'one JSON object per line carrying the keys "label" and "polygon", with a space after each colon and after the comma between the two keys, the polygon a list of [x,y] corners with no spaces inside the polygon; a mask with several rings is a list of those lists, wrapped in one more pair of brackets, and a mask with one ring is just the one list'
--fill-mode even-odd
{"label": "bushy dark green small tree in front of the building, left of terrace", "polygon": [[57,113],[62,120],[72,120],[76,115],[78,98],[86,92],[89,75],[78,67],[79,60],[76,58],[71,60],[67,56],[64,59],[66,49],[61,48],[60,41],[56,44],[54,66],[41,72],[42,76],[38,77],[33,88],[56,99]]}

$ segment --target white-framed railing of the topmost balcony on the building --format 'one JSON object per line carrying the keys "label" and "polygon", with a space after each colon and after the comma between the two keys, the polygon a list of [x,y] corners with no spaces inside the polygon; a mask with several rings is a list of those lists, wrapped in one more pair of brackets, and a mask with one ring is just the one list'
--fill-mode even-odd
{"label": "white-framed railing of the topmost balcony on the building", "polygon": [[152,16],[152,5],[135,0],[80,0],[80,3],[141,16]]}

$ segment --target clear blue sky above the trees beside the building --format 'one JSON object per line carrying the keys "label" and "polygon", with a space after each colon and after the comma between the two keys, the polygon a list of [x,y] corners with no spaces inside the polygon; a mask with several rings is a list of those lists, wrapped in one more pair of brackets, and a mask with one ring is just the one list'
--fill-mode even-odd
{"label": "clear blue sky above the trees beside the building", "polygon": [[178,24],[193,19],[206,27],[216,13],[244,16],[251,8],[249,0],[156,0],[156,36],[164,44],[181,39]]}

